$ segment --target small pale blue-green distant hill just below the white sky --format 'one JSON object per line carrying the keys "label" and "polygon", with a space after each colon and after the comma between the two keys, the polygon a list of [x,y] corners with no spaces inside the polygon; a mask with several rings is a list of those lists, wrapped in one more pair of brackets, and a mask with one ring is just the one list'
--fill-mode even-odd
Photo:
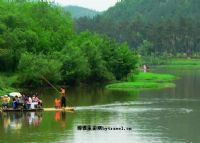
{"label": "small pale blue-green distant hill just below the white sky", "polygon": [[79,6],[66,6],[64,7],[64,9],[70,12],[73,18],[80,18],[80,17],[85,17],[85,16],[92,18],[101,13],[95,10],[91,10],[91,9],[83,8]]}

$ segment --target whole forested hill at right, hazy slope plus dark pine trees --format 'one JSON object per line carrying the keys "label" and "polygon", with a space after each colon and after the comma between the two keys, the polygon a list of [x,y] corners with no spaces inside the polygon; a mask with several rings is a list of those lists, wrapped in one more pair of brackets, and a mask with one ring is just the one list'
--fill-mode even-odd
{"label": "whole forested hill at right, hazy slope plus dark pine trees", "polygon": [[121,0],[100,16],[78,19],[76,29],[127,41],[142,55],[196,56],[199,7],[199,0]]}

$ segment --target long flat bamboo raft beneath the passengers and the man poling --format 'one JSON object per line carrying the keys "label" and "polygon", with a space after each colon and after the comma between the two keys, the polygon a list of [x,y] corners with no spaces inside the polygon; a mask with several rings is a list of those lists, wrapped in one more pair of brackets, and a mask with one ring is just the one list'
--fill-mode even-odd
{"label": "long flat bamboo raft beneath the passengers and the man poling", "polygon": [[13,108],[7,108],[7,109],[0,109],[0,112],[74,112],[74,107],[66,107],[66,108],[35,108],[35,109],[13,109]]}

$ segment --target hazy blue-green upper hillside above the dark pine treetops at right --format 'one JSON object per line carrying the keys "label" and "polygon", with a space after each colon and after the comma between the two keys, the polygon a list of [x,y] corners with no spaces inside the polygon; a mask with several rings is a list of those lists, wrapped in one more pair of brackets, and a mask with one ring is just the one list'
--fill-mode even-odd
{"label": "hazy blue-green upper hillside above the dark pine treetops at right", "polygon": [[104,13],[115,21],[131,21],[140,18],[147,22],[181,17],[200,18],[199,0],[122,0]]}

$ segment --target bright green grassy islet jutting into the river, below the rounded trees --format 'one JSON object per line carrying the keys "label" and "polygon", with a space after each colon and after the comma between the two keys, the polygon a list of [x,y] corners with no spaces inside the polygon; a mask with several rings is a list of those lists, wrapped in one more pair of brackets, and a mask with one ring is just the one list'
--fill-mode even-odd
{"label": "bright green grassy islet jutting into the river, below the rounded trees", "polygon": [[113,83],[106,86],[107,89],[114,90],[149,90],[173,88],[176,85],[170,81],[176,77],[170,74],[139,73],[130,75],[128,82]]}

